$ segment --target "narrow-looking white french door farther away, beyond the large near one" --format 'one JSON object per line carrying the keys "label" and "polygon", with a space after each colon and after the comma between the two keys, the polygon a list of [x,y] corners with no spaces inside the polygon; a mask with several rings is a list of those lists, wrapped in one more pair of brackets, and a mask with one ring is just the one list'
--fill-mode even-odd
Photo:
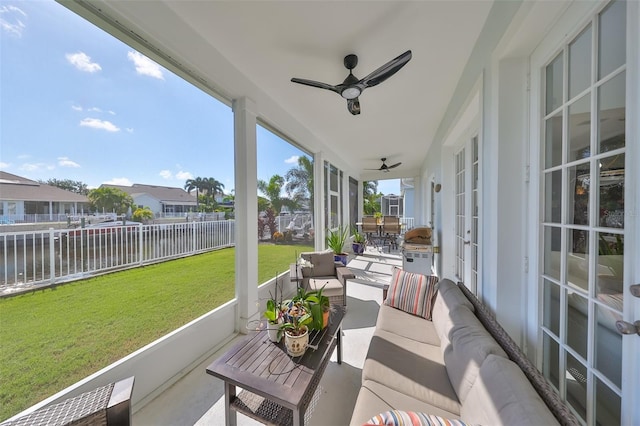
{"label": "narrow-looking white french door farther away, beyond the large near one", "polygon": [[455,275],[477,294],[478,287],[478,137],[455,154]]}

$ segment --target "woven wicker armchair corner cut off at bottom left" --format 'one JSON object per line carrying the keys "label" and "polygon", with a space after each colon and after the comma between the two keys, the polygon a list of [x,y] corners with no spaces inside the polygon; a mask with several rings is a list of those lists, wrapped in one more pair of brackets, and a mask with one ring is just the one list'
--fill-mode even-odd
{"label": "woven wicker armchair corner cut off at bottom left", "polygon": [[133,377],[49,405],[0,426],[129,426]]}

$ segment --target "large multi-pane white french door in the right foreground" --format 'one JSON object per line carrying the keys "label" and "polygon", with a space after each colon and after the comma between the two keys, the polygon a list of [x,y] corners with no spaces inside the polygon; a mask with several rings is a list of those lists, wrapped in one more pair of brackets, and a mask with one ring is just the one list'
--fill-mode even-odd
{"label": "large multi-pane white french door in the right foreground", "polygon": [[637,420],[640,379],[625,371],[638,356],[616,327],[637,303],[625,263],[639,258],[625,247],[638,226],[625,205],[638,191],[627,177],[638,139],[627,138],[626,11],[605,5],[542,70],[542,371],[587,425]]}

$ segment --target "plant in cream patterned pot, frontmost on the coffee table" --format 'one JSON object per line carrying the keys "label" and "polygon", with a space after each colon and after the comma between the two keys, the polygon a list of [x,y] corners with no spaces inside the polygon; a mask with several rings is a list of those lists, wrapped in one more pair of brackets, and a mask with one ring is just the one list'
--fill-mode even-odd
{"label": "plant in cream patterned pot, frontmost on the coffee table", "polygon": [[313,315],[309,304],[300,294],[303,289],[298,289],[298,296],[284,303],[283,319],[280,324],[280,332],[284,332],[284,345],[287,353],[292,357],[304,355],[309,345],[309,325],[313,322]]}

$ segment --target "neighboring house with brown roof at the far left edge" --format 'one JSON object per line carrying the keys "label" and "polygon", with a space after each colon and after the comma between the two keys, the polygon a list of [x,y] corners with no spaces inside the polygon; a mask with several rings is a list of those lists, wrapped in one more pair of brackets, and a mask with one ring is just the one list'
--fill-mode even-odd
{"label": "neighboring house with brown roof at the far left edge", "polygon": [[60,221],[88,211],[89,199],[85,195],[0,171],[3,223]]}

